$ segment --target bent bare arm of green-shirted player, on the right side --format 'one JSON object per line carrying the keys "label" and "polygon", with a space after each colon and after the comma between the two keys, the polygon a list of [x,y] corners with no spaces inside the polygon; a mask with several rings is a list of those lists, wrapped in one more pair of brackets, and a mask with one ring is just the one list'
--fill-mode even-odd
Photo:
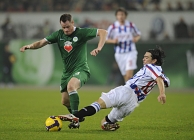
{"label": "bent bare arm of green-shirted player, on the right side", "polygon": [[97,36],[100,37],[99,42],[98,42],[98,47],[90,52],[90,54],[93,56],[96,56],[102,50],[105,44],[105,41],[106,41],[107,31],[104,29],[98,29]]}

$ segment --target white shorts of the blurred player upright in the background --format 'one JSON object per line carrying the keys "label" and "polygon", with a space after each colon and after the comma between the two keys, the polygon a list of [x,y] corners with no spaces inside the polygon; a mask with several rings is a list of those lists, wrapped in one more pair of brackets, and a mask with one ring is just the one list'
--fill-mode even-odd
{"label": "white shorts of the blurred player upright in the background", "polygon": [[119,66],[122,75],[126,75],[127,70],[137,68],[137,51],[128,53],[115,53],[115,60]]}

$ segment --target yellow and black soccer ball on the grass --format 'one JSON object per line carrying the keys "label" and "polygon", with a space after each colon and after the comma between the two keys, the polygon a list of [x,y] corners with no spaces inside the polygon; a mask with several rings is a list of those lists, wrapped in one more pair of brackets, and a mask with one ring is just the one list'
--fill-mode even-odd
{"label": "yellow and black soccer ball on the grass", "polygon": [[62,121],[57,116],[50,116],[46,119],[45,127],[47,131],[60,131],[62,128]]}

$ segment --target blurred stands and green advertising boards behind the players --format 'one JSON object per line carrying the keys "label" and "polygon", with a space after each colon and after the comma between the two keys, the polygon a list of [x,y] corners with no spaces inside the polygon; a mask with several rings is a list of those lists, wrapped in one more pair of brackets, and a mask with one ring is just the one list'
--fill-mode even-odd
{"label": "blurred stands and green advertising boards behind the players", "polygon": [[[1,0],[0,88],[59,86],[62,61],[56,44],[25,53],[19,48],[60,29],[59,17],[64,13],[73,16],[77,27],[107,29],[118,7],[128,10],[127,20],[142,33],[136,44],[136,71],[145,51],[160,45],[167,56],[163,69],[171,88],[194,88],[194,0]],[[87,85],[123,84],[112,45],[106,44],[97,57],[89,55],[97,41],[88,42]]]}

